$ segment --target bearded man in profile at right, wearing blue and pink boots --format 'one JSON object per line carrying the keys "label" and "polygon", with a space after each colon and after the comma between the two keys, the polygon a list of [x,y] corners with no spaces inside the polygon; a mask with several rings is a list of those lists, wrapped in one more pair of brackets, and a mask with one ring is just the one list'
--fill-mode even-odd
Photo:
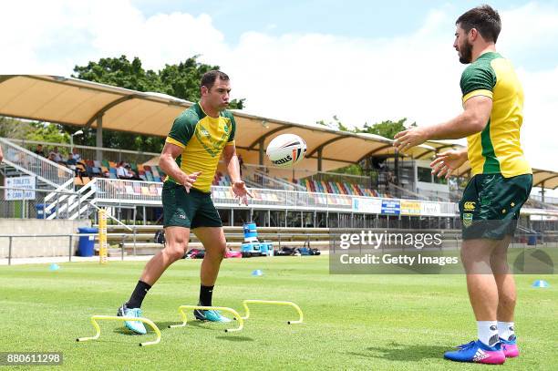
{"label": "bearded man in profile at right, wearing blue and pink boots", "polygon": [[515,283],[507,249],[522,205],[532,188],[532,170],[520,145],[523,90],[511,62],[496,52],[500,15],[489,5],[470,9],[456,22],[454,47],[460,62],[463,112],[439,125],[396,135],[399,150],[428,139],[467,138],[467,148],[437,155],[430,166],[438,176],[470,161],[471,179],[460,201],[470,304],[478,340],[444,356],[453,361],[501,364],[519,356],[514,334]]}

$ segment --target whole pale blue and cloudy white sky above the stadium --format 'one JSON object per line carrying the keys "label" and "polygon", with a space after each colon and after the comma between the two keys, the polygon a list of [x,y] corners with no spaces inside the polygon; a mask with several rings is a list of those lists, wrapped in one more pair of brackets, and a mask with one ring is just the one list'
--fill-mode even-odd
{"label": "whole pale blue and cloudy white sky above the stadium", "polygon": [[[471,1],[98,0],[5,2],[0,73],[70,76],[101,57],[159,70],[194,55],[232,77],[246,111],[349,127],[461,111],[455,20]],[[492,1],[498,51],[525,91],[522,145],[558,170],[558,1]],[[32,9],[30,11],[30,9]],[[553,135],[554,134],[554,135]]]}

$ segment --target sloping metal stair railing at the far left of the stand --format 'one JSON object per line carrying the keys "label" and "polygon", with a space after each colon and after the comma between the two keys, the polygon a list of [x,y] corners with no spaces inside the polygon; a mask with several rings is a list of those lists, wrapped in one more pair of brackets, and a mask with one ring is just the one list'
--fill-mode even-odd
{"label": "sloping metal stair railing at the far left of the stand", "polygon": [[4,152],[4,161],[15,170],[36,176],[37,180],[47,183],[52,188],[64,186],[73,188],[74,171],[60,166],[56,162],[37,156],[35,153],[15,145],[10,140],[0,138],[0,146]]}

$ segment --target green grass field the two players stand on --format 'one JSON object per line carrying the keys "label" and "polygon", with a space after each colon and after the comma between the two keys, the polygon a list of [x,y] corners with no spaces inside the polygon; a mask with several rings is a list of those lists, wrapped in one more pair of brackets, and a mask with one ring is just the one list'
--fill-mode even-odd
{"label": "green grass field the two players stand on", "polygon": [[[196,304],[200,261],[171,266],[143,303],[159,325],[159,345],[140,347],[153,334],[129,335],[118,322],[101,323],[97,341],[92,314],[116,314],[138,280],[143,262],[65,263],[0,267],[0,352],[59,351],[53,369],[367,369],[447,370],[490,366],[442,359],[452,345],[476,336],[464,277],[460,275],[330,275],[326,256],[227,260],[213,304],[242,309],[243,299],[290,300],[288,307],[254,307],[240,333],[226,325],[179,323],[177,308]],[[261,277],[251,272],[261,269]],[[534,289],[534,279],[550,288]],[[499,369],[556,369],[558,277],[517,276],[516,328],[522,356]]]}

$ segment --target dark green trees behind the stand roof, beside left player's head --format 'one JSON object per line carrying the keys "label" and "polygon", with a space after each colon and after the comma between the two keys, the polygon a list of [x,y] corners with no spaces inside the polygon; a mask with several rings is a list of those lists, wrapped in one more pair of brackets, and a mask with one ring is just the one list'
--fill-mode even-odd
{"label": "dark green trees behind the stand roof, beside left player's head", "polygon": [[[101,58],[98,62],[89,62],[87,66],[76,66],[75,75],[88,81],[129,88],[138,91],[164,93],[176,98],[191,101],[200,99],[200,80],[202,75],[219,66],[205,65],[197,61],[198,56],[190,57],[178,65],[165,65],[159,72],[145,70],[139,57],[130,62],[128,57]],[[242,109],[245,99],[234,99],[230,107]],[[65,129],[67,133],[74,131]],[[103,146],[120,149],[134,149],[160,152],[164,138],[126,133],[121,131],[103,131]],[[76,138],[77,144],[96,145],[95,135]]]}

